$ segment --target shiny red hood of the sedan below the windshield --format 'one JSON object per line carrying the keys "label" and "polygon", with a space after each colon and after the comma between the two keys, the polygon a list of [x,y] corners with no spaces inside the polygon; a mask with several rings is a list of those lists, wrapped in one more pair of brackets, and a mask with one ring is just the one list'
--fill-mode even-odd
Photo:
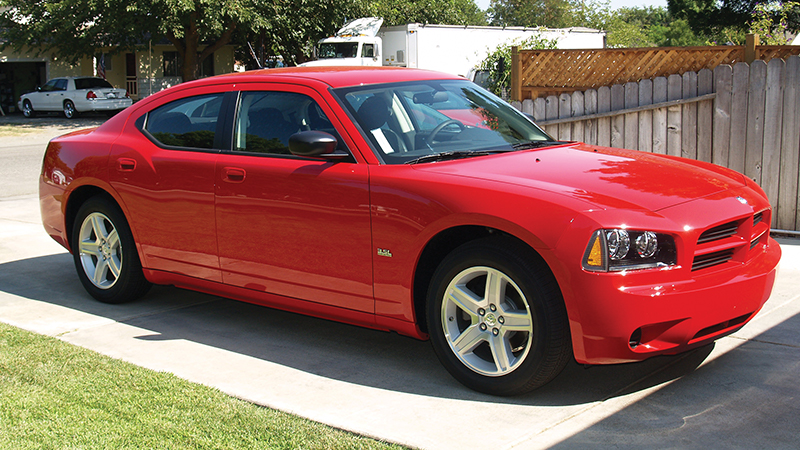
{"label": "shiny red hood of the sedan below the windshield", "polygon": [[745,185],[743,175],[724,167],[587,144],[414,167],[559,192],[607,209],[658,211]]}

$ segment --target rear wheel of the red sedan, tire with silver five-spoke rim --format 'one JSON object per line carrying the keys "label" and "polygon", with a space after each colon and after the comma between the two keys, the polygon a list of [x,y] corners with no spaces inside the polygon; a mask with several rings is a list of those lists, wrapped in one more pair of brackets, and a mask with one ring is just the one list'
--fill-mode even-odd
{"label": "rear wheel of the red sedan, tire with silver five-spoke rim", "polygon": [[86,291],[103,303],[125,303],[150,289],[128,222],[104,197],[81,205],[72,227],[72,256]]}

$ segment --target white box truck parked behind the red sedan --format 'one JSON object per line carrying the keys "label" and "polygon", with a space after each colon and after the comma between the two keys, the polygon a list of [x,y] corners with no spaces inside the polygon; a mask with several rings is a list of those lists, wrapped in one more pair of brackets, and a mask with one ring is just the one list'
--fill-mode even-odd
{"label": "white box truck parked behind the red sedan", "polygon": [[320,40],[317,59],[303,65],[416,67],[467,76],[502,44],[537,36],[556,40],[557,48],[604,48],[606,36],[590,28],[382,24],[379,17],[348,22],[336,36]]}

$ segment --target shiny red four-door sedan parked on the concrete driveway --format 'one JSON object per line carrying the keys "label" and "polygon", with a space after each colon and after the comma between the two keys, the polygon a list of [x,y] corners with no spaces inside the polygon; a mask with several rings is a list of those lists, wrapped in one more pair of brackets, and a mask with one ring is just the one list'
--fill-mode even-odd
{"label": "shiny red four-door sedan parked on the concrete driveway", "polygon": [[175,285],[430,338],[497,395],[730,334],[781,254],[739,173],[558,142],[408,69],[181,84],[51,141],[40,201],[100,301]]}

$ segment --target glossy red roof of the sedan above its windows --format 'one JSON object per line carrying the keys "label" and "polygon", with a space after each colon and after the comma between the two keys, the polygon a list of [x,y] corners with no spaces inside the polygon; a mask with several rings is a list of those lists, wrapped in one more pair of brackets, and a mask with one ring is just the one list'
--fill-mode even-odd
{"label": "glossy red roof of the sedan above its windows", "polygon": [[[247,72],[217,75],[205,80],[222,81],[234,78],[234,82],[280,81],[282,78],[306,78],[321,81],[333,88],[358,86],[362,84],[394,83],[420,80],[463,80],[464,78],[441,72],[404,67],[359,67],[359,66],[309,66],[259,69]],[[229,81],[229,80],[225,80]]]}

